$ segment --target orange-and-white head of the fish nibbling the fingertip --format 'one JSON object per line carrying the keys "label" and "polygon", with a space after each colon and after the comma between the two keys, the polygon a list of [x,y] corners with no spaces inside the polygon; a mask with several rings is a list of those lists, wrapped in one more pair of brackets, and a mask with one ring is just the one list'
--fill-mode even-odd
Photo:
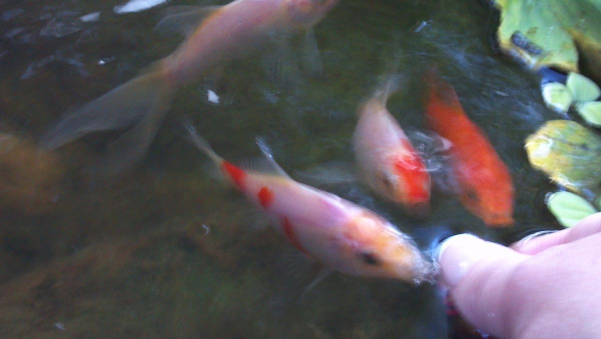
{"label": "orange-and-white head of the fish nibbling the fingertip", "polygon": [[364,212],[350,222],[343,234],[344,257],[351,274],[421,281],[431,265],[415,245],[386,220]]}

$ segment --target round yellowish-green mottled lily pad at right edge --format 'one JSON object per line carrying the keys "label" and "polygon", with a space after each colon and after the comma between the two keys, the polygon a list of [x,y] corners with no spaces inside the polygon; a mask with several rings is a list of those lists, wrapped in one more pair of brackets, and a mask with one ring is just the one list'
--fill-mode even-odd
{"label": "round yellowish-green mottled lily pad at right edge", "polygon": [[525,148],[534,168],[570,191],[601,182],[601,138],[574,121],[547,121],[528,136]]}

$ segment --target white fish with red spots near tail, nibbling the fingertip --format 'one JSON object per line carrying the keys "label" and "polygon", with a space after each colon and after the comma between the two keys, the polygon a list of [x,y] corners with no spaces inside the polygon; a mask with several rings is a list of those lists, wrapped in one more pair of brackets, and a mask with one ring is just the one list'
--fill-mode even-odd
{"label": "white fish with red spots near tail, nibbling the fingertip", "polygon": [[282,236],[325,267],[355,276],[429,279],[432,267],[408,236],[390,222],[337,195],[291,179],[260,144],[267,168],[244,169],[224,160],[187,126],[194,144],[234,187],[261,209]]}

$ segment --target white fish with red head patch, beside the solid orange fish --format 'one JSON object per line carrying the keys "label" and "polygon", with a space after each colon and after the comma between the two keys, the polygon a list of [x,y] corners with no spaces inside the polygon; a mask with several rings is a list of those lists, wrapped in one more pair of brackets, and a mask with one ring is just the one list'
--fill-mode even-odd
{"label": "white fish with red head patch, beside the solid orange fish", "polygon": [[407,213],[424,216],[430,209],[430,175],[386,102],[400,79],[391,77],[359,106],[353,134],[356,162],[364,181]]}

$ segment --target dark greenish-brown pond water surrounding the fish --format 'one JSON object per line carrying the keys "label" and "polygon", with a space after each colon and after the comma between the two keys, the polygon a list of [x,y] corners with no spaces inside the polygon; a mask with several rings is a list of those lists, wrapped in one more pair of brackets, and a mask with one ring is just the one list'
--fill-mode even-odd
{"label": "dark greenish-brown pond water surrounding the fish", "polygon": [[424,74],[436,65],[510,168],[516,225],[487,228],[436,192],[431,215],[416,221],[359,183],[325,189],[385,216],[424,251],[463,231],[509,243],[558,228],[544,204],[554,186],[523,150],[558,117],[538,77],[495,53],[497,17],[484,1],[341,0],[315,27],[323,78],[281,90],[263,69],[269,51],[255,53],[217,82],[180,88],[142,162],[120,176],[84,171],[120,132],[35,156],[35,140],[63,112],[171,53],[183,39],[153,31],[159,10],[191,4],[130,12],[115,10],[117,0],[0,0],[0,132],[23,147],[0,165],[2,180],[17,182],[0,183],[3,337],[446,337],[437,286],[334,273],[305,293],[319,267],[216,177],[181,127],[189,117],[234,163],[258,156],[261,136],[293,177],[352,162],[356,106],[397,60],[406,84],[389,111],[410,135],[424,131]]}

